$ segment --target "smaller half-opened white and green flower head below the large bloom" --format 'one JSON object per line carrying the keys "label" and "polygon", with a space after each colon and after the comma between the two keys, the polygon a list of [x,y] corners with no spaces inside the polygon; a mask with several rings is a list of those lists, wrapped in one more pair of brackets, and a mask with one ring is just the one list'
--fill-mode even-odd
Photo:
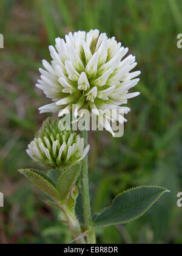
{"label": "smaller half-opened white and green flower head below the large bloom", "polygon": [[66,167],[80,162],[89,152],[84,139],[71,131],[59,130],[58,121],[45,120],[35,139],[29,144],[27,154],[42,165],[52,168]]}

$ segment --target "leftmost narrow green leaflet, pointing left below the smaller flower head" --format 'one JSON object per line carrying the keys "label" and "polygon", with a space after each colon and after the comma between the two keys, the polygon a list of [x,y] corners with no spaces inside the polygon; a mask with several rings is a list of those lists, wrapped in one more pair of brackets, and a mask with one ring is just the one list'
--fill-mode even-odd
{"label": "leftmost narrow green leaflet, pointing left below the smaller flower head", "polygon": [[33,182],[38,188],[44,191],[55,202],[60,202],[60,194],[56,189],[55,184],[43,172],[35,169],[20,169],[19,172],[24,174],[29,180]]}

